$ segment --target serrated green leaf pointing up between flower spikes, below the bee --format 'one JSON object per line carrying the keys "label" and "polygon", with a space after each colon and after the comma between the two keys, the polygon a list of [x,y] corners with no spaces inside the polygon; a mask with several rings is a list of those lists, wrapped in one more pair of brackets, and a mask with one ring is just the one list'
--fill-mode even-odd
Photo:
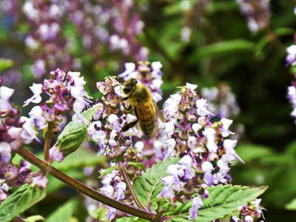
{"label": "serrated green leaf pointing up between flower spikes, below the bee", "polygon": [[[170,164],[175,164],[179,160],[178,157],[166,159],[164,162],[158,162],[156,165],[147,169],[140,177],[134,180],[133,187],[135,192],[144,206],[151,206],[152,210],[157,209],[157,195],[165,186],[161,182],[161,178],[168,176],[166,173]],[[149,202],[148,202],[149,201]]]}

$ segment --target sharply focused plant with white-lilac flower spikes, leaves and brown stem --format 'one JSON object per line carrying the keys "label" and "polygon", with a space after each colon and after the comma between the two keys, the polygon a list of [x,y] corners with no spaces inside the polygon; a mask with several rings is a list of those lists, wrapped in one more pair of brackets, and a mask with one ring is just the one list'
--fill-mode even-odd
{"label": "sharply focused plant with white-lilac flower spikes, leaves and brown stem", "polygon": [[[158,102],[163,99],[161,68],[160,62],[126,63],[126,71],[119,77],[136,79]],[[45,196],[47,174],[98,201],[88,205],[88,210],[99,221],[103,217],[116,220],[132,216],[149,221],[214,221],[238,210],[240,219],[233,216],[232,221],[261,220],[263,208],[254,199],[267,187],[230,185],[230,165],[244,162],[234,149],[237,140],[231,139],[235,134],[229,130],[232,120],[219,119],[209,111],[207,100],[196,92],[197,85],[186,83],[169,96],[163,105],[166,121],[155,116],[157,135],[151,139],[137,126],[123,131],[137,116],[125,109],[119,77],[107,76],[97,82],[102,98],[92,107],[80,73],[57,69],[49,77],[30,87],[34,95],[24,106],[37,106],[29,117],[20,116],[20,110],[9,102],[14,90],[0,87],[2,221],[15,218]],[[84,109],[87,110],[83,112]],[[72,121],[63,127],[66,113],[72,115]],[[57,141],[51,146],[51,138],[58,132]],[[93,188],[52,166],[54,161],[63,162],[67,155],[89,147],[85,137],[110,164],[101,166]],[[44,140],[44,160],[23,146],[34,140]],[[30,174],[25,162],[14,164],[14,152],[40,171]],[[85,174],[95,175],[97,170],[87,168]],[[20,185],[9,196],[7,191]],[[17,199],[19,195],[30,201]],[[12,201],[17,201],[19,207],[12,210]],[[252,212],[248,210],[251,206]],[[3,215],[7,210],[12,213]]]}

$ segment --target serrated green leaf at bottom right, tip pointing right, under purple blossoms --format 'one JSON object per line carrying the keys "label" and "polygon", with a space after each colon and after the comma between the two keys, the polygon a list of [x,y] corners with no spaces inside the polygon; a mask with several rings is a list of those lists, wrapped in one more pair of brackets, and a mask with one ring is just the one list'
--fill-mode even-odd
{"label": "serrated green leaf at bottom right, tip pointing right, under purple blossoms", "polygon": [[[209,197],[203,199],[203,208],[199,212],[196,222],[209,222],[224,218],[236,211],[239,206],[244,206],[253,201],[267,189],[267,186],[250,188],[249,186],[239,185],[217,185],[206,187],[209,191]],[[189,221],[187,219],[188,211],[192,206],[192,201],[186,204],[178,203],[175,211],[168,215],[178,215],[171,219],[172,222]],[[183,215],[180,215],[183,214]]]}

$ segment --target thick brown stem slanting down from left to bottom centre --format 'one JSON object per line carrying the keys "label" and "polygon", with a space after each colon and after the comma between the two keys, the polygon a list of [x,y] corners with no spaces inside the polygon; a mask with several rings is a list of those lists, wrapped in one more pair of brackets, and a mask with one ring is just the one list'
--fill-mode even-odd
{"label": "thick brown stem slanting down from left to bottom centre", "polygon": [[38,168],[40,168],[42,171],[49,173],[51,176],[57,178],[58,180],[62,181],[66,185],[72,187],[73,189],[85,194],[86,196],[91,197],[94,200],[97,200],[103,204],[106,204],[110,207],[113,207],[117,210],[123,211],[127,214],[143,218],[148,221],[153,221],[155,217],[154,212],[149,212],[142,210],[137,207],[132,207],[130,205],[127,205],[123,202],[117,201],[113,198],[110,198],[82,183],[79,181],[69,177],[68,175],[64,174],[63,172],[59,171],[58,169],[51,166],[51,164],[43,161],[42,159],[38,158],[36,155],[34,155],[32,152],[30,152],[26,148],[20,148],[17,150],[17,153],[22,156],[24,159],[26,159],[28,162],[34,164]]}

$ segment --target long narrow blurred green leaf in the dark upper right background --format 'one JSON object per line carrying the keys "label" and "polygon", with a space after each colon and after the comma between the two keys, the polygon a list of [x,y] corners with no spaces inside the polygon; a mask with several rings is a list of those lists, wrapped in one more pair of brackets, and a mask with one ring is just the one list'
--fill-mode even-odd
{"label": "long narrow blurred green leaf in the dark upper right background", "polygon": [[205,45],[195,50],[189,59],[189,64],[196,63],[196,61],[201,59],[234,54],[241,51],[254,51],[254,43],[245,39],[232,39]]}

